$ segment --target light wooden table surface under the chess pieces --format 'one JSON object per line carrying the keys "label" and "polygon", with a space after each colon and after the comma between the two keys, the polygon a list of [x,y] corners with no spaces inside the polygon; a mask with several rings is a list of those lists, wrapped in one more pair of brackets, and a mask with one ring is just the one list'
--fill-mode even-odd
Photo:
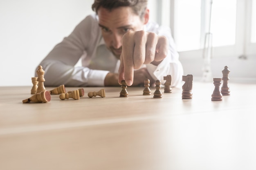
{"label": "light wooden table surface under the chess pieces", "polygon": [[31,87],[0,87],[0,170],[255,170],[256,84],[229,87],[223,101],[211,101],[213,83],[193,82],[193,99],[181,87],[161,99],[153,87],[128,87],[128,98],[84,87],[80,100],[48,103],[22,103]]}

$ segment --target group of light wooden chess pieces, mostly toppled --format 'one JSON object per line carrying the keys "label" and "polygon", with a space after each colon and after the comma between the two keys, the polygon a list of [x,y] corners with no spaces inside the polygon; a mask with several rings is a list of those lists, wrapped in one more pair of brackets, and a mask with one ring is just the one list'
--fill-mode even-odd
{"label": "group of light wooden chess pieces, mostly toppled", "polygon": [[[73,98],[74,100],[79,100],[80,97],[84,96],[84,89],[76,89],[73,91],[66,92],[65,86],[60,85],[59,87],[56,87],[50,91],[47,91],[44,86],[44,73],[45,71],[43,70],[42,66],[38,66],[38,70],[36,71],[36,74],[38,77],[32,77],[32,84],[33,87],[31,88],[31,94],[34,94],[30,98],[27,98],[25,100],[22,100],[23,103],[27,102],[49,102],[51,100],[51,95],[52,94],[60,94],[59,98],[61,100]],[[88,97],[96,97],[96,96],[101,96],[105,97],[105,89],[100,89],[99,92],[89,92]]]}

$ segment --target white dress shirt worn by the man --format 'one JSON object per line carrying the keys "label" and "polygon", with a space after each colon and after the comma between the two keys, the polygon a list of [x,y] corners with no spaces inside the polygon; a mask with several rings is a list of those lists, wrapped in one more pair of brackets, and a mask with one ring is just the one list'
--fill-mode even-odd
{"label": "white dress shirt worn by the man", "polygon": [[[143,65],[155,80],[172,76],[172,86],[182,81],[183,68],[170,28],[149,22],[145,31],[164,35],[169,41],[168,56],[158,65]],[[81,58],[81,67],[75,67]],[[74,31],[57,44],[40,63],[45,70],[46,86],[104,86],[109,72],[118,73],[120,61],[106,48],[96,14],[87,16]],[[144,80],[143,80],[144,81]]]}

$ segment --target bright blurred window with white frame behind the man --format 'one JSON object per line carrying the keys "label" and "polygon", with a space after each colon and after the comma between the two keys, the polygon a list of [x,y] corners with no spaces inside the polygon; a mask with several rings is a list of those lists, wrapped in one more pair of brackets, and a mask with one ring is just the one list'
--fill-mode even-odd
{"label": "bright blurred window with white frame behind the man", "polygon": [[[213,57],[255,55],[253,9],[256,0],[171,0],[170,25],[178,51],[202,57],[206,35],[211,33]],[[166,15],[162,17],[166,20]]]}

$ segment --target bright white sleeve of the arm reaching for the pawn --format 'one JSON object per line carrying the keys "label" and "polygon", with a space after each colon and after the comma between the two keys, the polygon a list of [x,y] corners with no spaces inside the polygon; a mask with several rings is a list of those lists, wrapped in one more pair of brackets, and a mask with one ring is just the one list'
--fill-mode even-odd
{"label": "bright white sleeve of the arm reaching for the pawn", "polygon": [[155,28],[151,28],[151,30],[158,35],[165,36],[168,39],[169,49],[167,57],[162,60],[159,65],[155,66],[153,64],[147,64],[146,68],[152,78],[155,80],[160,80],[162,84],[165,83],[164,76],[171,75],[171,86],[175,87],[182,82],[183,67],[179,61],[179,54],[176,50],[175,42],[171,35],[171,29],[168,27],[155,26]]}

